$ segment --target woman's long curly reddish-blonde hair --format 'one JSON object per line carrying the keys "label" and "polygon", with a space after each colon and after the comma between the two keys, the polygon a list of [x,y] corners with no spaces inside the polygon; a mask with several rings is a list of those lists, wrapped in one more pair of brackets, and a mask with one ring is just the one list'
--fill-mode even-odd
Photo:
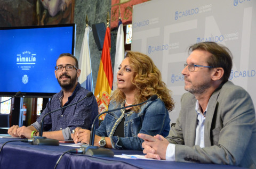
{"label": "woman's long curly reddish-blonde hair", "polygon": [[[126,51],[126,57],[129,57],[129,64],[134,72],[132,83],[137,88],[133,104],[139,104],[149,99],[150,96],[157,95],[164,102],[167,110],[172,111],[174,102],[171,97],[171,90],[167,89],[166,84],[162,81],[161,72],[151,58],[140,52],[132,51]],[[110,100],[115,100],[117,104],[123,104],[125,95],[117,88]],[[140,106],[134,106],[133,111],[138,113]]]}

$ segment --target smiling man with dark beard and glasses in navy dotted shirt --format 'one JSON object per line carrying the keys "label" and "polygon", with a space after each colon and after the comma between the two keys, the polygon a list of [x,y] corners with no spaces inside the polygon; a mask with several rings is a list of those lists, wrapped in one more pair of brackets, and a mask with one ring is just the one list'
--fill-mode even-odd
{"label": "smiling man with dark beard and glasses in navy dotted shirt", "polygon": [[[62,88],[61,91],[52,96],[35,123],[20,128],[18,125],[13,125],[8,133],[12,137],[31,138],[38,136],[41,120],[46,113],[76,103],[84,98],[90,91],[79,84],[78,77],[80,73],[81,70],[78,69],[78,62],[74,55],[69,53],[60,54],[55,66],[55,77]],[[81,127],[91,130],[91,125],[97,115],[98,104],[95,97],[85,98],[78,104],[45,116],[43,136],[57,140],[71,140],[71,131],[75,128]],[[98,128],[98,123],[95,124]]]}

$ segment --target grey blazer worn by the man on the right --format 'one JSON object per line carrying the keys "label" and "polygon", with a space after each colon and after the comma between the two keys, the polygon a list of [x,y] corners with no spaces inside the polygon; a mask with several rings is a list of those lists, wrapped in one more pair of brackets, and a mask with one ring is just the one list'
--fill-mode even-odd
{"label": "grey blazer worn by the man on the right", "polygon": [[166,137],[175,145],[175,160],[256,168],[255,110],[250,95],[228,81],[212,94],[204,124],[205,147],[195,146],[196,98],[181,98],[181,111]]}

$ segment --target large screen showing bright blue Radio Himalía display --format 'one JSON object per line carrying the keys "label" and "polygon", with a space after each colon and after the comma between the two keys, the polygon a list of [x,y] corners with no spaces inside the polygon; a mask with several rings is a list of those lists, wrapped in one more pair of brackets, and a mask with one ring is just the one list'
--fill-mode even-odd
{"label": "large screen showing bright blue Radio Himal\u00eda display", "polygon": [[0,96],[59,92],[54,67],[61,53],[74,54],[75,29],[75,24],[0,28]]}

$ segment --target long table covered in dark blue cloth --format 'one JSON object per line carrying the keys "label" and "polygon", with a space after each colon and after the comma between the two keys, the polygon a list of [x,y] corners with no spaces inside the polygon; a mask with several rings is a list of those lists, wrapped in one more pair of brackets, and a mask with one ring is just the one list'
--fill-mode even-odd
{"label": "long table covered in dark blue cloth", "polygon": [[[0,138],[0,146],[9,140],[20,140],[17,138]],[[68,143],[66,143],[68,144]],[[54,168],[59,157],[67,150],[74,149],[70,146],[36,146],[27,142],[9,142],[0,153],[0,168]],[[117,150],[115,155],[138,154],[137,150]],[[218,169],[241,169],[242,167],[217,164],[198,164],[169,162],[166,160],[143,160],[125,159],[118,157],[91,157],[82,154],[65,154],[60,160],[57,168],[218,168]]]}

